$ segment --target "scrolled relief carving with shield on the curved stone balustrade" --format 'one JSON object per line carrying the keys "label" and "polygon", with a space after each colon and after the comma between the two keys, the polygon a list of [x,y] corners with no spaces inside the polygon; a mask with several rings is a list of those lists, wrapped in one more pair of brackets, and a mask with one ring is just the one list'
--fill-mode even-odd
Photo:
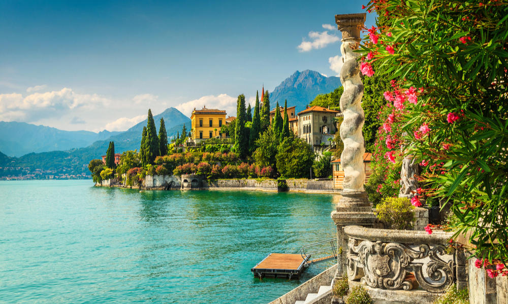
{"label": "scrolled relief carving with shield on the curved stone balustrade", "polygon": [[[453,260],[446,263],[439,258],[439,255],[447,254],[442,245],[430,248],[424,244],[416,251],[405,244],[362,241],[356,245],[358,242],[351,238],[348,242],[347,274],[351,280],[361,279],[372,288],[411,290],[414,286],[405,280],[411,272],[428,292],[443,292],[454,282]],[[430,259],[427,263],[428,280],[423,275],[423,263],[413,262],[426,257]]]}

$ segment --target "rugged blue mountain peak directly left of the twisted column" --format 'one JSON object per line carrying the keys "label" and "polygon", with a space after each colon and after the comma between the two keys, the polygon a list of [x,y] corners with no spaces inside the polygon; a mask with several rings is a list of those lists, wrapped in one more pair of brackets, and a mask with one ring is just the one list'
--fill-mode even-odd
{"label": "rugged blue mountain peak directly left of the twisted column", "polygon": [[322,74],[304,70],[296,71],[291,77],[285,79],[270,93],[270,106],[275,107],[275,102],[284,106],[284,100],[288,100],[288,106],[296,105],[296,111],[303,111],[319,94],[330,93],[340,87],[340,78],[325,77]]}

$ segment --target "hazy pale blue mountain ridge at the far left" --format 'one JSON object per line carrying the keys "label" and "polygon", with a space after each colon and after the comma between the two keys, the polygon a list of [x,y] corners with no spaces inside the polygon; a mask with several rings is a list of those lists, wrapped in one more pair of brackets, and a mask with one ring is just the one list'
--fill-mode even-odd
{"label": "hazy pale blue mountain ridge at the far left", "polygon": [[90,145],[121,132],[63,131],[18,122],[0,122],[0,151],[20,157],[28,153],[69,150]]}

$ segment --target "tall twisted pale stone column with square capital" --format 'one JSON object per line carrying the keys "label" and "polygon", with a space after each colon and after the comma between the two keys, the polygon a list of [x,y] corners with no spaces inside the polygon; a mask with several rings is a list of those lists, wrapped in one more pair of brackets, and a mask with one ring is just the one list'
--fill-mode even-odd
{"label": "tall twisted pale stone column with square capital", "polygon": [[372,212],[372,204],[363,188],[365,182],[365,167],[363,155],[365,153],[365,139],[362,127],[365,115],[362,109],[363,84],[360,79],[360,54],[353,51],[358,49],[361,41],[360,31],[364,26],[366,14],[335,15],[335,22],[342,33],[340,51],[344,65],[340,70],[340,82],[344,86],[344,93],[340,97],[340,110],[344,120],[340,126],[340,138],[344,143],[344,150],[340,156],[340,163],[344,170],[342,197],[331,217],[337,225],[337,246],[342,247],[343,254],[338,256],[336,278],[342,277],[343,266],[346,263],[347,236],[343,236],[342,227],[347,225],[361,225],[370,227],[376,220]]}

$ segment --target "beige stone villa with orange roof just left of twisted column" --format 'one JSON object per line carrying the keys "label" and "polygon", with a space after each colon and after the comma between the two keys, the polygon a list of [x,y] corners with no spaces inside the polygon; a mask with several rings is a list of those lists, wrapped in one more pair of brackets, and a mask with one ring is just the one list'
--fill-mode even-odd
{"label": "beige stone villa with orange roof just left of twisted column", "polygon": [[312,146],[330,145],[328,139],[333,139],[333,134],[337,131],[333,119],[338,113],[340,112],[317,105],[299,112],[298,137]]}

